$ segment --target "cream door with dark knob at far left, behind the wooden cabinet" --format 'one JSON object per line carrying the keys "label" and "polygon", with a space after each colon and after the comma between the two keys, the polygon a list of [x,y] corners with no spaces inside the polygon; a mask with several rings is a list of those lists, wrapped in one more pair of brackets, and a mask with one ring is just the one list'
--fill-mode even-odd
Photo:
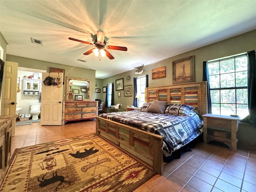
{"label": "cream door with dark knob at far left, behind the wooden cabinet", "polygon": [[[16,99],[17,99],[17,76],[18,63],[6,61],[4,64],[4,115],[16,114]],[[15,134],[15,122],[12,122],[12,135]]]}

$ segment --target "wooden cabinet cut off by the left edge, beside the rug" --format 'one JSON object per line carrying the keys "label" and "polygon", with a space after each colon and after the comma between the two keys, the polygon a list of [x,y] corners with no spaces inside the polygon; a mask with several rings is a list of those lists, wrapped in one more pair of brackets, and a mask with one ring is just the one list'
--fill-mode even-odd
{"label": "wooden cabinet cut off by the left edge, beside the rug", "polygon": [[[0,116],[0,183],[9,168],[12,143],[12,121],[17,115]],[[15,126],[15,125],[14,125]]]}

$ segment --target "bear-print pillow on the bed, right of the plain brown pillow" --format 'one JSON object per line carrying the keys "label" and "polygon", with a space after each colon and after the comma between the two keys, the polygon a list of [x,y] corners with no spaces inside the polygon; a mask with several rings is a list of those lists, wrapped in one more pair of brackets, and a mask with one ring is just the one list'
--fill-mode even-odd
{"label": "bear-print pillow on the bed, right of the plain brown pillow", "polygon": [[164,114],[178,115],[178,116],[188,116],[190,112],[194,109],[193,106],[184,104],[169,104],[164,110]]}

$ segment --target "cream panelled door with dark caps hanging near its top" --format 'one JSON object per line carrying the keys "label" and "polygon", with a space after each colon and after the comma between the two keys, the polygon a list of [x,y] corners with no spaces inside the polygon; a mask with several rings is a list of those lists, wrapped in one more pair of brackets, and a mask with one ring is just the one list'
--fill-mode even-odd
{"label": "cream panelled door with dark caps hanging near its top", "polygon": [[[46,77],[60,76],[60,86],[44,85]],[[62,82],[63,73],[42,73],[41,125],[62,124]]]}

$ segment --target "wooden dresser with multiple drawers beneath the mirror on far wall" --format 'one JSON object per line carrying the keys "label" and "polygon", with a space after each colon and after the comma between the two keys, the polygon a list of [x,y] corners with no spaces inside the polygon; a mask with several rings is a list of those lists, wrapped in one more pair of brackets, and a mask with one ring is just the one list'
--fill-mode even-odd
{"label": "wooden dresser with multiple drawers beneath the mirror on far wall", "polygon": [[92,119],[98,116],[97,101],[63,101],[62,125],[68,121]]}

